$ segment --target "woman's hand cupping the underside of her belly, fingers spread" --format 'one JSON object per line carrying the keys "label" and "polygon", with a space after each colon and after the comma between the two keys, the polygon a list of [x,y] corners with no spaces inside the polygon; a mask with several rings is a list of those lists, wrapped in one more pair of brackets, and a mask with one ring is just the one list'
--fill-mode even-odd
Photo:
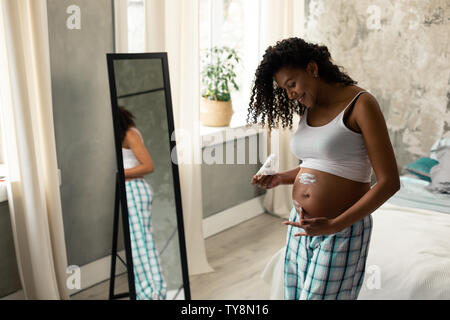
{"label": "woman's hand cupping the underside of her belly, fingers spread", "polygon": [[325,217],[305,219],[303,211],[300,210],[300,221],[284,221],[283,224],[293,227],[302,228],[305,232],[294,234],[294,236],[322,236],[339,232],[334,219]]}

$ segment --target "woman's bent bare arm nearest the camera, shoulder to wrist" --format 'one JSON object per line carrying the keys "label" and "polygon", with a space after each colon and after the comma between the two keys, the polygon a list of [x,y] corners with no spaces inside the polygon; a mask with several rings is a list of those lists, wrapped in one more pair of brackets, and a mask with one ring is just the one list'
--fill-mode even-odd
{"label": "woman's bent bare arm nearest the camera, shoulder to wrist", "polygon": [[374,212],[400,189],[394,150],[378,102],[370,94],[362,95],[355,104],[354,113],[377,183],[355,204],[334,219],[339,231]]}

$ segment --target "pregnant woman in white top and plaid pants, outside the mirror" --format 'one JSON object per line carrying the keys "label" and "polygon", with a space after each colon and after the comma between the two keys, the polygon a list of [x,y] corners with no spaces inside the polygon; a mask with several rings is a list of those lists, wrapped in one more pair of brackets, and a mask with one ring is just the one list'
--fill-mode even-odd
{"label": "pregnant woman in white top and plaid pants, outside the mirror", "polygon": [[[376,99],[333,64],[326,46],[289,38],[270,46],[257,71],[249,115],[292,128],[302,163],[258,175],[261,188],[293,184],[284,266],[285,299],[356,299],[372,217],[400,188],[394,151]],[[377,183],[371,187],[371,173]]]}

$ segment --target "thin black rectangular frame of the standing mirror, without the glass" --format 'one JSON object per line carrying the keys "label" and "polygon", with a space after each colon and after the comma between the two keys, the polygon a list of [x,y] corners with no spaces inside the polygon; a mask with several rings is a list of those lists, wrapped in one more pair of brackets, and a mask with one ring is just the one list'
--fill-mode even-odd
{"label": "thin black rectangular frame of the standing mirror, without the glass", "polygon": [[[116,77],[114,72],[114,61],[115,60],[130,60],[130,59],[161,59],[163,68],[163,78],[164,78],[164,94],[166,100],[166,113],[167,113],[167,127],[169,129],[169,144],[170,150],[176,150],[176,139],[175,139],[175,127],[174,118],[172,112],[172,95],[170,90],[170,77],[169,77],[169,64],[167,59],[167,52],[151,52],[151,53],[107,53],[107,63],[108,63],[108,77],[110,83],[110,97],[111,97],[111,108],[113,116],[114,125],[114,142],[116,147],[116,159],[117,159],[117,177],[120,192],[120,203],[122,211],[122,226],[124,232],[124,245],[125,245],[125,256],[127,262],[128,270],[128,287],[129,287],[129,297],[130,300],[136,300],[136,289],[134,286],[134,273],[133,273],[133,259],[131,255],[131,242],[130,242],[130,228],[128,223],[128,205],[125,190],[125,173],[123,169],[123,158],[122,158],[122,143],[120,141],[120,125],[119,125],[119,111],[117,103],[117,89],[116,89]],[[171,135],[173,133],[173,137]],[[172,140],[173,138],[173,140]],[[172,152],[171,152],[172,154]],[[177,153],[174,153],[177,157]],[[189,286],[189,272],[187,263],[187,253],[186,253],[186,243],[185,243],[185,233],[184,233],[184,222],[183,222],[183,209],[181,201],[181,190],[180,190],[180,177],[178,171],[178,159],[172,162],[172,176],[173,176],[173,188],[175,195],[175,206],[177,211],[177,227],[178,227],[178,243],[181,255],[181,270],[183,277],[183,289],[185,300],[191,300],[191,292]]]}

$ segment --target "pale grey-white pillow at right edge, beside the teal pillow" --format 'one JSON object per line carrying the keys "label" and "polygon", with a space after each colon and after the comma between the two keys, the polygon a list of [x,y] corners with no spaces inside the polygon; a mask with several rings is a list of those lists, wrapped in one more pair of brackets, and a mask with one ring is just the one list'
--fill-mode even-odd
{"label": "pale grey-white pillow at right edge, beside the teal pillow", "polygon": [[450,146],[437,150],[436,157],[439,163],[431,168],[431,183],[425,188],[434,193],[450,194]]}

